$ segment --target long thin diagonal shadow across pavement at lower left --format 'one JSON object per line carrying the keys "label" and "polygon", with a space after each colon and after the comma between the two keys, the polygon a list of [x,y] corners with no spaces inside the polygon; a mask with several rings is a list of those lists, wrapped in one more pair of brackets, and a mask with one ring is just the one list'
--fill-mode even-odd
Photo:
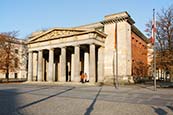
{"label": "long thin diagonal shadow across pavement at lower left", "polygon": [[52,98],[52,97],[55,97],[55,96],[57,96],[57,95],[63,94],[63,93],[68,92],[68,91],[71,91],[71,90],[73,90],[74,88],[75,88],[75,87],[72,87],[72,88],[69,88],[69,89],[67,89],[67,90],[65,90],[65,91],[56,93],[56,94],[54,94],[54,95],[45,97],[45,98],[43,98],[43,99],[34,101],[34,102],[32,102],[32,103],[29,103],[29,104],[23,105],[23,106],[21,106],[21,107],[18,107],[17,110],[24,109],[24,108],[29,107],[29,106],[32,106],[32,105],[34,105],[34,104],[40,103],[40,102],[42,102],[42,101],[45,101],[45,100],[50,99],[50,98]]}

